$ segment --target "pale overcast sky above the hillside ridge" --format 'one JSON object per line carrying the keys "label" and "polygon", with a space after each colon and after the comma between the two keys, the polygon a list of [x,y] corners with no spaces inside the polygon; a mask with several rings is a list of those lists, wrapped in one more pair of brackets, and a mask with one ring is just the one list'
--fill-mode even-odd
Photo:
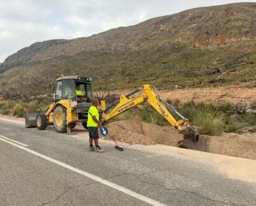
{"label": "pale overcast sky above the hillside ridge", "polygon": [[35,42],[87,37],[232,0],[0,0],[0,62]]}

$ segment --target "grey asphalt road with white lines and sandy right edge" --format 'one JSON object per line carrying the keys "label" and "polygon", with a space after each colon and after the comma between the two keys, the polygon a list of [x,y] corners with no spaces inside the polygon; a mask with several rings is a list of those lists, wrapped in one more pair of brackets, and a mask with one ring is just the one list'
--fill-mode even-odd
{"label": "grey asphalt road with white lines and sandy right edge", "polygon": [[[255,205],[256,161],[0,119],[0,205]],[[16,141],[16,142],[14,142]]]}

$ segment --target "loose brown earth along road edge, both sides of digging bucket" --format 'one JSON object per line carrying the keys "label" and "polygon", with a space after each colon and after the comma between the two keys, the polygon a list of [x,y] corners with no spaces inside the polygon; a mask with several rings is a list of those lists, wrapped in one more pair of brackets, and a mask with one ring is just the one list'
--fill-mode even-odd
{"label": "loose brown earth along road edge, both sides of digging bucket", "polygon": [[[157,126],[136,119],[117,121],[107,125],[109,134],[119,142],[129,144],[163,144],[177,147],[183,135],[171,126]],[[205,138],[206,152],[256,160],[256,134],[222,133],[221,136],[200,135]],[[102,139],[109,139],[102,136]]]}

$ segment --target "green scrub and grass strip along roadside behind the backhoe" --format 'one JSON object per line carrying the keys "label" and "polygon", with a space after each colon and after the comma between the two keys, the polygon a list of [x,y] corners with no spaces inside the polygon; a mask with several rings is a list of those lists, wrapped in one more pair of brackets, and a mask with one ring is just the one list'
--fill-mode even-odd
{"label": "green scrub and grass strip along roadside behind the backhoe", "polygon": [[[174,106],[180,115],[187,118],[193,126],[197,127],[200,134],[236,133],[241,128],[255,127],[256,125],[255,115],[252,112],[238,114],[234,106],[230,104],[217,107],[213,104],[206,105],[203,102],[195,105],[193,101],[180,105],[178,99],[173,101],[167,99],[166,101]],[[0,100],[0,113],[8,116],[25,117],[25,109],[28,113],[42,113],[51,103],[52,99],[49,97],[41,97],[36,100]],[[252,108],[256,109],[256,104],[252,105]],[[181,119],[178,114],[174,112],[171,114],[176,120]],[[146,103],[116,116],[111,122],[132,118],[159,126],[170,126],[170,123],[161,114]]]}

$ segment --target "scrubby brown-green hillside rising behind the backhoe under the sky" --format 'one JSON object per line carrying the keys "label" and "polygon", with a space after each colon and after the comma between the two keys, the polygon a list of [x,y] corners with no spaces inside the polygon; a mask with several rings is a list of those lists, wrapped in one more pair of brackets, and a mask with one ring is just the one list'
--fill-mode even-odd
{"label": "scrubby brown-green hillside rising behind the backhoe under the sky", "polygon": [[[91,76],[96,87],[112,89],[250,82],[255,22],[256,3],[236,3],[190,9],[90,37],[37,42],[4,61],[0,84],[6,78],[45,80],[46,73],[51,81],[62,73]],[[235,75],[223,76],[231,71]]]}

